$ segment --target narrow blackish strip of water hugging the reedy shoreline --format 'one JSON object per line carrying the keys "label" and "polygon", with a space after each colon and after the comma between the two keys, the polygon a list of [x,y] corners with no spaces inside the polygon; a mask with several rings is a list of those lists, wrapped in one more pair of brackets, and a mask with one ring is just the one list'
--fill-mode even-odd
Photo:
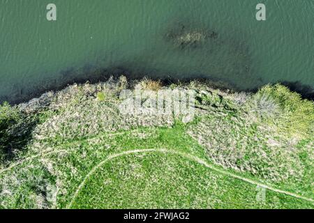
{"label": "narrow blackish strip of water hugging the reedy shoreline", "polygon": [[[261,86],[258,86],[257,88],[253,89],[240,89],[239,87],[230,84],[228,82],[224,82],[220,79],[209,79],[209,78],[174,78],[174,77],[163,77],[163,78],[156,78],[154,76],[151,76],[149,74],[147,75],[138,75],[130,70],[126,70],[124,68],[112,68],[112,69],[96,69],[93,72],[89,72],[88,74],[79,75],[77,77],[73,77],[72,79],[65,79],[63,82],[47,82],[45,85],[42,85],[41,88],[34,89],[34,91],[31,91],[29,93],[23,93],[21,92],[20,96],[17,96],[15,98],[8,98],[8,97],[2,97],[0,98],[0,104],[3,102],[9,102],[11,105],[18,105],[24,102],[29,102],[30,100],[34,98],[39,98],[44,93],[47,93],[49,91],[61,91],[65,89],[67,86],[73,85],[73,84],[85,84],[89,82],[90,84],[96,84],[98,82],[106,82],[110,77],[113,77],[114,79],[117,79],[117,77],[125,75],[130,82],[133,80],[142,79],[143,77],[148,77],[152,80],[160,80],[164,86],[169,86],[170,84],[176,84],[178,82],[181,83],[188,83],[192,80],[197,80],[200,82],[206,82],[207,85],[209,85],[212,89],[220,89],[222,91],[231,91],[231,92],[239,92],[243,91],[246,93],[255,93]],[[314,101],[314,89],[311,86],[301,84],[300,82],[274,82],[269,84],[283,84],[284,86],[287,86],[291,91],[297,92],[301,95],[302,98],[313,100]]]}

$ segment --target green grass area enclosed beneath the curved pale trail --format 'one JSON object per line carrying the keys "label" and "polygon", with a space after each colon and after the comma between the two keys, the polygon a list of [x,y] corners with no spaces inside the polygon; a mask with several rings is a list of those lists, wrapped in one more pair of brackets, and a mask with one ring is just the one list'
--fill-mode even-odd
{"label": "green grass area enclosed beneath the curved pale trail", "polygon": [[179,155],[144,153],[109,160],[85,183],[70,208],[311,208],[311,203],[217,174]]}

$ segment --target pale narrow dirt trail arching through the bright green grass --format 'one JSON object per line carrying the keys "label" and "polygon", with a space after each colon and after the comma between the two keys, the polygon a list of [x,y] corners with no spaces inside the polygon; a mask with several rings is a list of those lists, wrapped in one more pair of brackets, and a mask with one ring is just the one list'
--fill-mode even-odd
{"label": "pale narrow dirt trail arching through the bright green grass", "polygon": [[70,208],[71,206],[73,206],[73,202],[75,201],[75,199],[77,198],[77,195],[80,193],[80,190],[82,190],[82,188],[84,187],[85,183],[87,182],[87,180],[89,179],[89,177],[91,177],[98,168],[100,168],[101,166],[103,166],[103,164],[105,164],[105,162],[108,162],[116,157],[121,157],[124,155],[129,155],[129,154],[135,154],[135,153],[170,153],[170,154],[175,154],[175,155],[181,155],[182,157],[186,157],[188,160],[192,160],[195,162],[198,162],[199,164],[204,165],[204,167],[207,167],[209,169],[212,169],[220,174],[224,174],[226,176],[230,176],[232,178],[237,178],[239,180],[243,180],[246,183],[251,183],[253,185],[258,185],[260,187],[264,187],[265,189],[274,191],[274,192],[278,192],[281,194],[286,194],[289,195],[291,197],[295,197],[298,199],[303,199],[305,201],[311,201],[314,202],[313,199],[310,199],[308,197],[303,197],[299,194],[294,194],[292,192],[287,192],[285,190],[279,190],[276,189],[275,187],[271,187],[269,185],[264,185],[262,183],[259,183],[255,180],[251,180],[248,178],[244,178],[242,176],[238,176],[237,174],[232,174],[229,171],[223,171],[222,169],[218,169],[217,167],[214,167],[214,165],[211,165],[209,163],[207,163],[206,161],[200,159],[199,157],[196,157],[195,155],[190,155],[188,153],[182,153],[179,151],[172,151],[172,150],[167,150],[165,148],[161,148],[161,149],[156,149],[156,148],[147,148],[147,149],[136,149],[136,150],[132,150],[132,151],[124,151],[121,153],[116,153],[113,155],[109,155],[108,157],[105,158],[105,160],[103,160],[102,162],[100,162],[99,164],[97,164],[95,167],[93,167],[93,169],[91,169],[91,171],[89,171],[89,173],[87,174],[87,176],[85,176],[84,180],[82,180],[82,183],[80,183],[80,185],[77,187],[77,190],[75,190],[75,193],[73,194],[73,197],[70,201],[70,203],[68,204],[68,206],[66,208]]}

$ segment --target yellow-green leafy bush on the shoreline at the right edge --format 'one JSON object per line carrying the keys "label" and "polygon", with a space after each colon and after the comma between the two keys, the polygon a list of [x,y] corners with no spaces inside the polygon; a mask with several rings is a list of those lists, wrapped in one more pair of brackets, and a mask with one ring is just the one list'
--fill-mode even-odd
{"label": "yellow-green leafy bush on the shoreline at the right edge", "polygon": [[314,104],[312,101],[302,99],[299,93],[292,92],[281,84],[266,85],[258,91],[257,95],[271,100],[272,102],[267,105],[273,111],[278,105],[281,114],[274,116],[273,121],[281,134],[307,137],[313,133]]}

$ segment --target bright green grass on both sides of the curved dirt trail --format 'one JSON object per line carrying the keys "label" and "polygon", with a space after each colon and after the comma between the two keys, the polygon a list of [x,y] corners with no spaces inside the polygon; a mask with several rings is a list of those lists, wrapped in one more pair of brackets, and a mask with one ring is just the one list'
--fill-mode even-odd
{"label": "bright green grass on both sides of the curved dirt trail", "polygon": [[[3,178],[17,174],[17,178],[25,180],[14,189],[19,196],[7,197],[5,202],[12,203],[13,206],[9,207],[13,208],[32,208],[43,202],[40,193],[53,197],[54,191],[46,190],[47,187],[53,188],[55,178],[50,172],[56,171],[63,173],[62,177],[57,174],[63,182],[59,185],[60,194],[55,203],[58,208],[313,208],[311,202],[271,190],[266,192],[266,201],[256,201],[257,185],[220,174],[181,155],[154,151],[108,160],[87,178],[73,200],[77,188],[91,169],[112,154],[135,149],[167,148],[202,157],[211,163],[202,147],[183,130],[181,125],[172,129],[142,129],[112,138],[104,134],[60,146],[54,153],[43,154],[41,162],[34,158],[2,174]],[[143,133],[147,137],[135,137]],[[54,171],[49,171],[49,167]],[[179,192],[177,188],[180,188]],[[45,206],[54,203],[45,202]]]}

